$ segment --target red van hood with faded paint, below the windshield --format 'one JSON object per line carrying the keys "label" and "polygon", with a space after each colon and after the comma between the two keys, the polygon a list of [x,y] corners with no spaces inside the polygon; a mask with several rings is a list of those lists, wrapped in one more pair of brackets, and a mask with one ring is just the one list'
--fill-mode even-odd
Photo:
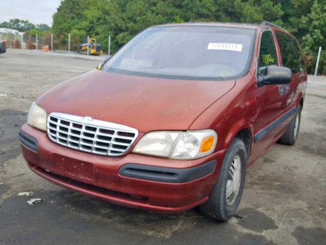
{"label": "red van hood with faded paint, below the windshield", "polygon": [[90,116],[140,132],[187,130],[234,85],[234,80],[172,80],[94,69],[46,91],[37,104],[47,113]]}

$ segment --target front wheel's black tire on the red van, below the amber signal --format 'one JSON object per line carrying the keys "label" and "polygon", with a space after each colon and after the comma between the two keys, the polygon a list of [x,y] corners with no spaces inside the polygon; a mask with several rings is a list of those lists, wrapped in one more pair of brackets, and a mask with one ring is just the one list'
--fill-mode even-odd
{"label": "front wheel's black tire on the red van, below the amber signal", "polygon": [[[236,160],[235,160],[236,159]],[[237,179],[236,176],[240,177],[240,180],[234,183],[237,188],[234,188],[234,185],[230,185],[228,182],[231,178],[231,174],[229,171],[231,170],[231,165],[233,166],[232,169],[234,169],[235,162],[238,162],[240,160],[240,172],[234,170],[233,175],[234,178]],[[226,155],[224,157],[220,174],[218,177],[218,180],[215,183],[215,186],[212,190],[212,193],[209,196],[209,199],[206,203],[200,205],[200,211],[205,216],[208,216],[210,218],[219,220],[221,222],[227,221],[229,218],[231,218],[240,203],[243,186],[244,186],[244,179],[246,178],[246,168],[247,168],[247,152],[246,152],[246,146],[244,145],[243,141],[235,138],[229,149],[226,152]],[[232,186],[231,189],[236,189],[234,192],[236,192],[233,196],[233,199],[231,200],[231,196],[227,200],[226,198],[226,191],[227,186]],[[230,188],[228,188],[230,189]],[[228,192],[229,193],[229,192]]]}

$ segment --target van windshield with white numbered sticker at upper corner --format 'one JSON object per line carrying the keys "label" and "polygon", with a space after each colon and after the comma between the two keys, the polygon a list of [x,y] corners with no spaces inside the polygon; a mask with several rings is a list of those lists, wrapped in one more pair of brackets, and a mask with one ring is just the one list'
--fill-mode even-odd
{"label": "van windshield with white numbered sticker at upper corner", "polygon": [[236,79],[249,70],[254,36],[253,29],[153,27],[122,47],[103,70],[169,79]]}

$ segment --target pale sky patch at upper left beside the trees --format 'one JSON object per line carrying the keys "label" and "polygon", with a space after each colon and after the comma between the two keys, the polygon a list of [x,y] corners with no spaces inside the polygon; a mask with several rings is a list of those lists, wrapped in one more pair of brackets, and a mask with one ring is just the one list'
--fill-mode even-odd
{"label": "pale sky patch at upper left beside the trees", "polygon": [[[52,26],[52,15],[57,12],[62,0],[9,0],[1,4],[0,22],[18,18],[33,24]],[[2,1],[0,1],[2,2]]]}

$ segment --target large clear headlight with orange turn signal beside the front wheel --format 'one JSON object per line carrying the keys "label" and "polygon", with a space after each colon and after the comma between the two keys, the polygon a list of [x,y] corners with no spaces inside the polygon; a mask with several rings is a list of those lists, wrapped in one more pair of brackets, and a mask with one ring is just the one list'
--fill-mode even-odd
{"label": "large clear headlight with orange turn signal beside the front wheel", "polygon": [[174,159],[195,159],[211,154],[218,141],[214,130],[153,131],[145,134],[132,150]]}

